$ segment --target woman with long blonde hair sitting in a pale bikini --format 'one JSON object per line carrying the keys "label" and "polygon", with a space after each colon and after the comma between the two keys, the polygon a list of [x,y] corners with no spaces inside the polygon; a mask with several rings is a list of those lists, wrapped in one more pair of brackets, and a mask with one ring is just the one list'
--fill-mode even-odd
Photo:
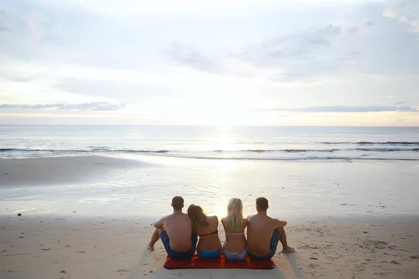
{"label": "woman with long blonde hair sitting in a pale bikini", "polygon": [[243,203],[241,199],[230,199],[227,206],[227,216],[221,219],[226,231],[226,242],[223,246],[223,254],[226,259],[246,259],[249,248],[247,247],[244,229],[247,227],[247,219],[243,218]]}

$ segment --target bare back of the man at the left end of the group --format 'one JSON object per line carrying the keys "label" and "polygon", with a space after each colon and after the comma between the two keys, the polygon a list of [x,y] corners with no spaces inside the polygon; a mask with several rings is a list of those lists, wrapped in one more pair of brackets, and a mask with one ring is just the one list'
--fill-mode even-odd
{"label": "bare back of the man at the left end of the group", "polygon": [[183,252],[191,249],[192,225],[186,214],[172,213],[164,217],[162,221],[173,250]]}

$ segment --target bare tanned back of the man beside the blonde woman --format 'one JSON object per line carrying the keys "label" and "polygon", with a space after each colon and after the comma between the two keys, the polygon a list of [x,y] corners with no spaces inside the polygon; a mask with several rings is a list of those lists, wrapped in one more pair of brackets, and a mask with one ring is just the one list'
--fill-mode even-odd
{"label": "bare tanned back of the man beside the blonde woman", "polygon": [[272,232],[279,225],[279,220],[260,214],[247,217],[247,246],[253,255],[267,255],[270,252]]}

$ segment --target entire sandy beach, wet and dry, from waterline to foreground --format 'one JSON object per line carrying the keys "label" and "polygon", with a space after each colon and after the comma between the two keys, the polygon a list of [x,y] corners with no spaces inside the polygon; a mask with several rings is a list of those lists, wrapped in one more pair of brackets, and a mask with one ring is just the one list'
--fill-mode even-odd
{"label": "entire sandy beach, wet and dry, from waterline to foreground", "polygon": [[[0,278],[418,278],[414,169],[152,156],[3,159]],[[242,197],[245,214],[266,195],[268,213],[288,221],[296,252],[276,255],[272,271],[163,269],[161,243],[153,252],[146,246],[151,224],[170,213],[177,193],[186,206],[196,202],[220,217],[231,195]]]}

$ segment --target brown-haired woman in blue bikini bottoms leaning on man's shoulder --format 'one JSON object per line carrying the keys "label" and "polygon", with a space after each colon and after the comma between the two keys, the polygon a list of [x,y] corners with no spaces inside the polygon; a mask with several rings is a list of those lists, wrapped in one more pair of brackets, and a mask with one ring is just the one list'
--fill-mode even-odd
{"label": "brown-haired woman in blue bikini bottoms leaning on man's shoulder", "polygon": [[188,216],[191,219],[193,233],[199,236],[196,247],[198,255],[204,258],[219,257],[221,241],[218,235],[218,218],[206,216],[203,209],[195,204],[189,206]]}

